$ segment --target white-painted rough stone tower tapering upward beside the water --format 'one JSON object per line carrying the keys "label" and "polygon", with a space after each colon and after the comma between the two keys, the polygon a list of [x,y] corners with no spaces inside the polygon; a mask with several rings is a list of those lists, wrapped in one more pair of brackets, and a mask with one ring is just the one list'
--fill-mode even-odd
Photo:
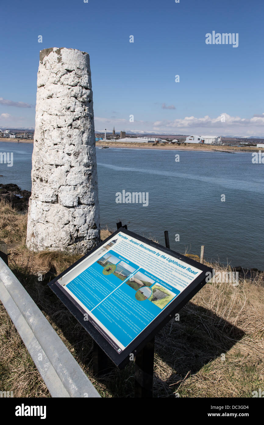
{"label": "white-painted rough stone tower tapering upward beside the water", "polygon": [[89,54],[40,52],[26,245],[87,252],[100,241]]}

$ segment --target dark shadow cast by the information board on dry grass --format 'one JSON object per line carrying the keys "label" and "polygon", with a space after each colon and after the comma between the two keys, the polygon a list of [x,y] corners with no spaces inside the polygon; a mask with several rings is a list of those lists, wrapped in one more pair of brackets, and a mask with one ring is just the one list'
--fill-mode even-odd
{"label": "dark shadow cast by the information board on dry grass", "polygon": [[157,374],[154,378],[156,397],[175,397],[188,372],[188,376],[196,374],[217,357],[224,358],[244,336],[244,331],[211,310],[187,303],[180,320],[171,320],[155,338],[156,364],[161,360],[168,366],[167,377],[165,366],[164,378]]}

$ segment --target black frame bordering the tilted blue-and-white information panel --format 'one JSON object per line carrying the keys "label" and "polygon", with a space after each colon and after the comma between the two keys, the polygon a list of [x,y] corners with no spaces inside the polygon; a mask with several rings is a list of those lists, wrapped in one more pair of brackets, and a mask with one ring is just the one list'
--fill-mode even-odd
{"label": "black frame bordering the tilted blue-and-white information panel", "polygon": [[[153,248],[159,249],[160,251],[171,255],[172,257],[177,258],[178,260],[182,260],[187,263],[189,266],[194,266],[200,270],[200,273],[192,283],[190,283],[183,291],[177,295],[175,300],[166,306],[160,314],[149,324],[146,328],[119,354],[113,346],[107,341],[106,337],[98,331],[94,325],[89,322],[89,320],[85,321],[84,317],[87,316],[87,312],[74,300],[67,291],[63,288],[63,286],[58,283],[58,279],[63,277],[69,270],[73,267],[81,263],[85,258],[89,257],[93,254],[94,251],[106,244],[107,241],[112,239],[118,233],[124,233],[125,235],[130,236],[131,238],[136,238],[142,243],[148,244]],[[64,303],[67,309],[73,314],[73,316],[78,320],[79,323],[83,326],[84,329],[91,335],[93,340],[98,344],[100,348],[107,354],[107,356],[112,360],[112,362],[119,368],[122,369],[127,365],[130,361],[130,354],[133,353],[135,356],[139,353],[146,344],[153,339],[153,337],[160,331],[163,326],[170,321],[170,319],[181,310],[181,308],[194,297],[194,295],[200,291],[200,289],[207,283],[206,282],[206,273],[210,272],[211,276],[213,273],[213,269],[209,266],[206,266],[202,263],[198,263],[192,258],[186,257],[185,255],[181,255],[172,249],[166,248],[156,242],[150,241],[147,238],[144,238],[136,233],[131,232],[130,230],[125,229],[124,227],[120,227],[116,232],[112,233],[108,238],[98,244],[94,249],[91,249],[86,255],[76,261],[72,266],[68,267],[64,272],[54,278],[48,286],[50,289],[57,295],[57,297]]]}

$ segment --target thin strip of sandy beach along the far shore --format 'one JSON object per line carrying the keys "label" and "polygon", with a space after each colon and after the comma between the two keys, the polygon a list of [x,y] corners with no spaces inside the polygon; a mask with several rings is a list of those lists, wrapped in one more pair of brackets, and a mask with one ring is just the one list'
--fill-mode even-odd
{"label": "thin strip of sandy beach along the far shore", "polygon": [[[33,144],[33,140],[27,139],[0,139],[0,142],[10,142],[10,143],[29,143]],[[212,145],[212,144],[202,144],[202,143],[188,143],[186,146],[184,143],[178,144],[165,144],[161,146],[155,145],[152,143],[136,143],[136,142],[126,142],[119,144],[118,142],[96,142],[96,147],[101,146],[117,147],[122,149],[156,149],[156,150],[191,150],[196,152],[226,152],[226,153],[237,153],[237,152],[256,152],[258,149],[256,146],[250,147],[237,147],[237,146],[221,146],[221,145]]]}

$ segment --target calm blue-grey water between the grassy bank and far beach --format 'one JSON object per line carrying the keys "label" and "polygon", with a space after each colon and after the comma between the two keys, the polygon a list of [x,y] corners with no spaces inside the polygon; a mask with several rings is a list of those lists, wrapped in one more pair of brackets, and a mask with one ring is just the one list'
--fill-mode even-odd
{"label": "calm blue-grey water between the grassy bank and far beach", "polygon": [[[33,144],[0,142],[14,166],[0,164],[1,183],[31,190]],[[175,154],[180,162],[175,162]],[[117,221],[179,252],[264,269],[264,164],[250,153],[97,149],[101,226]],[[148,192],[149,205],[117,204],[117,192]],[[225,202],[221,202],[221,195]],[[175,234],[180,241],[175,241]]]}

